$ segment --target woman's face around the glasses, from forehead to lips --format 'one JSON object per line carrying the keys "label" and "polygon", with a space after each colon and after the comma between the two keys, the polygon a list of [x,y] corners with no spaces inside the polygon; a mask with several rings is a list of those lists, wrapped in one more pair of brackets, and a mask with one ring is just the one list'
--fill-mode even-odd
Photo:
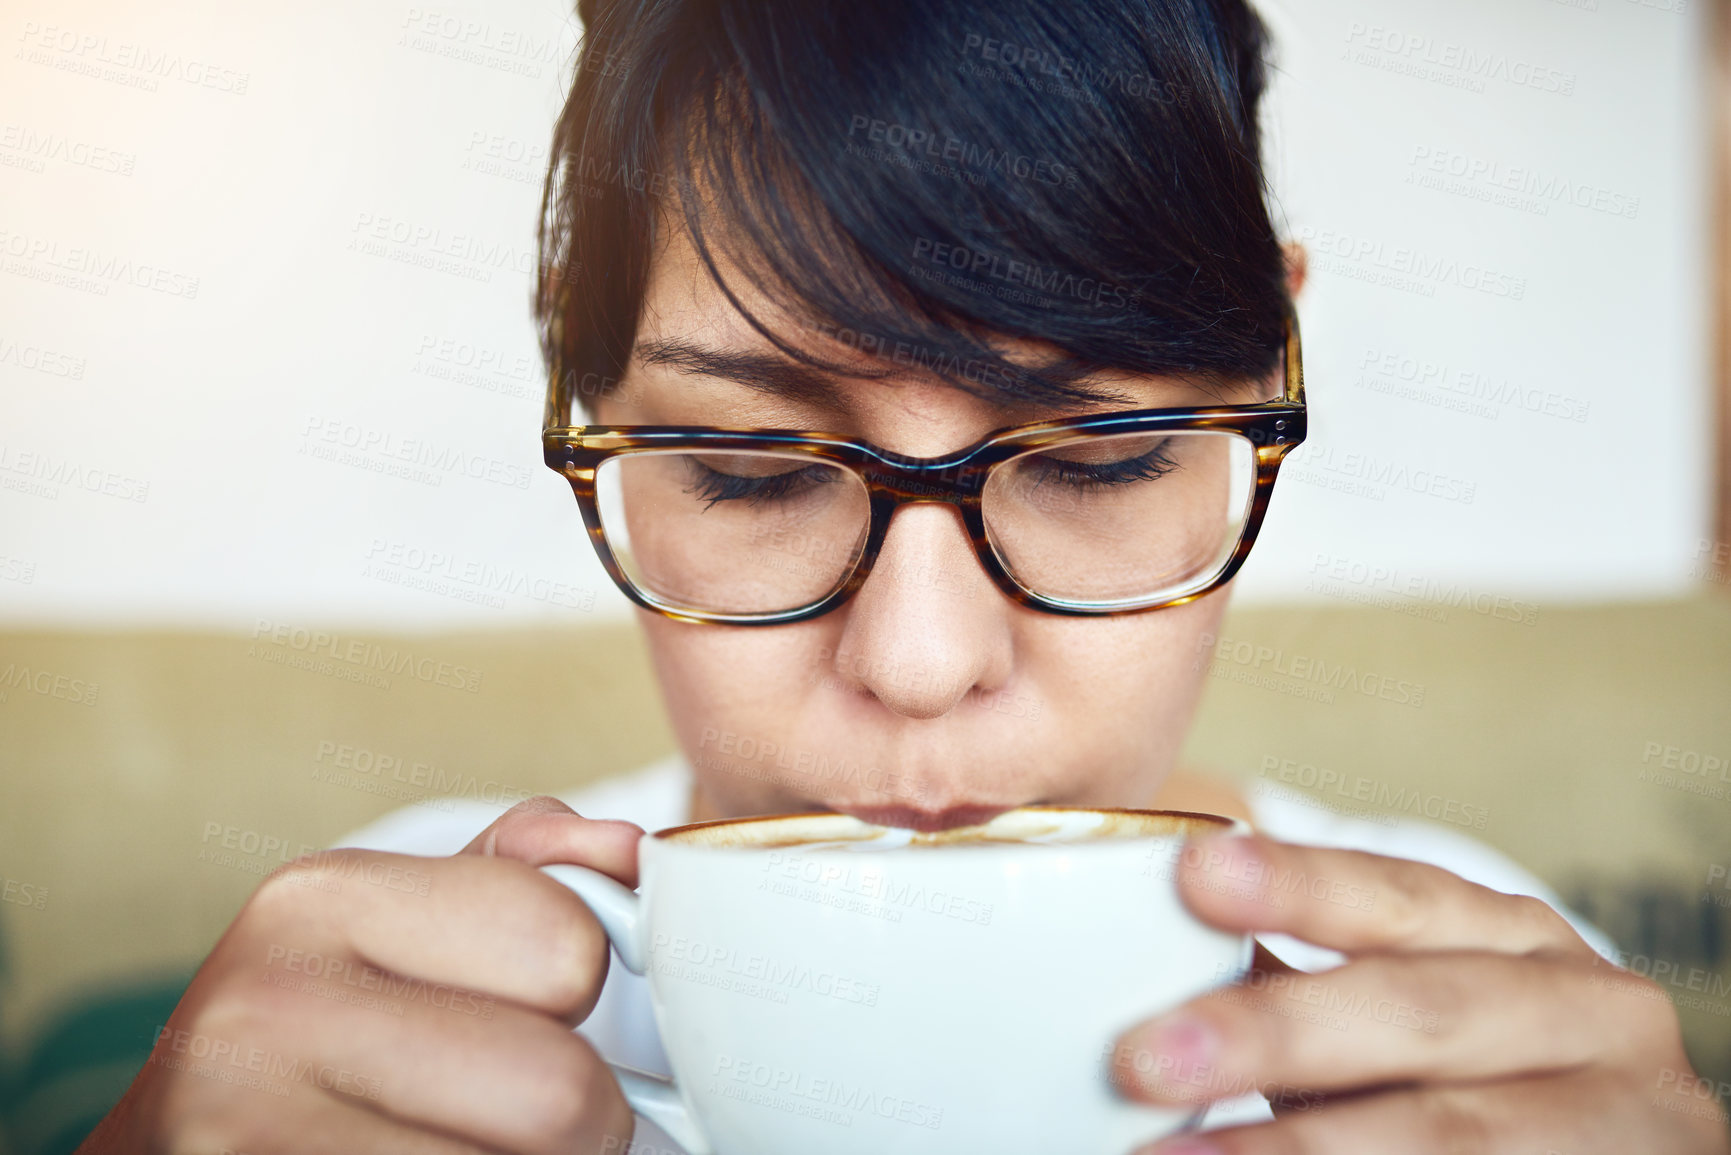
{"label": "woman's face around the glasses, from forehead to lips", "polygon": [[[651,267],[639,353],[677,341],[775,357],[705,274],[684,230]],[[755,315],[777,310],[730,277]],[[859,353],[808,329],[784,339]],[[1007,346],[1035,355],[1032,346]],[[824,429],[931,457],[992,429],[1084,409],[1220,403],[1160,377],[1115,377],[1123,402],[1054,410],[971,397],[933,377],[845,379],[834,398],[634,357],[604,424]],[[1272,386],[1271,386],[1272,388]],[[1260,386],[1232,402],[1271,395]],[[902,506],[871,577],[793,625],[729,627],[639,611],[703,817],[834,809],[943,828],[1026,803],[1146,805],[1170,772],[1207,675],[1226,592],[1153,613],[1026,610],[980,568],[957,511]]]}

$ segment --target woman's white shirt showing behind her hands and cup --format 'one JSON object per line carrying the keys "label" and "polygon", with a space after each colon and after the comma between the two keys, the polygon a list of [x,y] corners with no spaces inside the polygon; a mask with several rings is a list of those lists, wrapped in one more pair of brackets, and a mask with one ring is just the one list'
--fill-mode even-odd
{"label": "woman's white shirt showing behind her hands and cup", "polygon": [[[680,755],[672,755],[642,771],[561,793],[559,800],[583,817],[625,819],[647,831],[656,831],[691,821],[691,767]],[[1252,824],[1281,842],[1414,859],[1440,866],[1492,890],[1542,899],[1561,913],[1594,951],[1613,963],[1617,961],[1615,945],[1598,928],[1565,909],[1549,887],[1506,855],[1459,829],[1406,817],[1390,819],[1385,824],[1343,816],[1326,809],[1322,802],[1279,790],[1255,790],[1248,802]],[[443,798],[438,800],[436,809],[409,805],[364,826],[336,845],[428,857],[450,855],[462,850],[507,809],[504,803],[471,798]],[[1343,961],[1343,956],[1335,951],[1286,935],[1258,935],[1258,942],[1276,958],[1303,971],[1328,970]],[[608,970],[608,985],[601,992],[601,1001],[578,1030],[609,1061],[660,1075],[672,1074],[654,1027],[649,982],[623,966]],[[1260,1094],[1248,1094],[1215,1105],[1207,1115],[1203,1131],[1272,1117],[1272,1110]],[[680,1148],[658,1127],[639,1119],[632,1152],[634,1155],[679,1155]]]}

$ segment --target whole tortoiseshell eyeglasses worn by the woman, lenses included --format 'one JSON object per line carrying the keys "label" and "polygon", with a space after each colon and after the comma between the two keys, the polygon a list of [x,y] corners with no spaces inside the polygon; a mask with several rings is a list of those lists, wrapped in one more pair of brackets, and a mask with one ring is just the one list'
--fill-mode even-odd
{"label": "whole tortoiseshell eyeglasses worn by the woman, lenses included", "polygon": [[1298,322],[1279,400],[1137,409],[999,429],[943,457],[833,433],[569,426],[554,383],[542,447],[601,565],[684,622],[782,625],[871,575],[907,502],[961,514],[975,554],[1032,610],[1113,615],[1201,597],[1238,573],[1281,461],[1305,438]]}

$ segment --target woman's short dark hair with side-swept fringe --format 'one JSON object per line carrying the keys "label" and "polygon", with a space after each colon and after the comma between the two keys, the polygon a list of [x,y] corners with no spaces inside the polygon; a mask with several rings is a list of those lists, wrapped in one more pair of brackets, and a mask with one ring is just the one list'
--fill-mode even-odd
{"label": "woman's short dark hair with side-swept fringe", "polygon": [[[1092,398],[1080,377],[1103,369],[1229,384],[1277,364],[1291,303],[1257,121],[1269,36],[1246,0],[578,0],[578,16],[538,232],[556,381],[623,376],[663,208],[741,312],[717,255],[886,371],[980,395]],[[1013,364],[995,336],[1059,355]]]}

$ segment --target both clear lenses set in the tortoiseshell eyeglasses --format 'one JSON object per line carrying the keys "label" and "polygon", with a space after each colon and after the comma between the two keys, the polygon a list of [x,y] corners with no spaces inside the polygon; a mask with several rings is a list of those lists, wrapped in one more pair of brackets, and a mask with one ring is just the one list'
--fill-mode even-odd
{"label": "both clear lenses set in the tortoiseshell eyeglasses", "polygon": [[[1255,473],[1252,443],[1234,433],[1091,436],[999,464],[980,507],[992,551],[1023,587],[1127,608],[1219,575],[1250,518]],[[597,469],[595,495],[627,578],[699,613],[819,603],[846,582],[871,528],[864,480],[801,454],[621,454]]]}

